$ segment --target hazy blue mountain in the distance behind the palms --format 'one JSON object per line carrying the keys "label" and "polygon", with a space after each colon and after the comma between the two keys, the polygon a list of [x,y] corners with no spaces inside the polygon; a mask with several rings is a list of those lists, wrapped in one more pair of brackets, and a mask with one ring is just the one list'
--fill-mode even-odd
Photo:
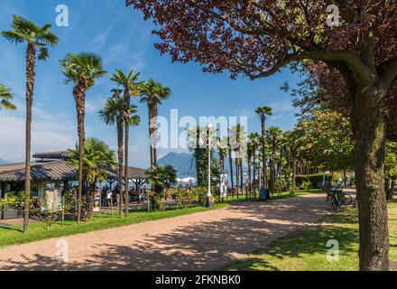
{"label": "hazy blue mountain in the distance behind the palms", "polygon": [[157,161],[160,165],[172,165],[179,178],[195,177],[196,168],[193,155],[186,153],[168,153]]}

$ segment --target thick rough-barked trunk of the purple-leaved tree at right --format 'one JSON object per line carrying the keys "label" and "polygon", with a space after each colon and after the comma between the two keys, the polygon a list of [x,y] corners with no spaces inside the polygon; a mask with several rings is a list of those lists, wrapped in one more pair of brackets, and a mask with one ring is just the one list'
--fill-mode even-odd
{"label": "thick rough-barked trunk of the purple-leaved tree at right", "polygon": [[360,227],[360,270],[389,270],[389,228],[383,162],[385,124],[381,95],[376,89],[355,96],[352,111],[355,140],[355,177]]}

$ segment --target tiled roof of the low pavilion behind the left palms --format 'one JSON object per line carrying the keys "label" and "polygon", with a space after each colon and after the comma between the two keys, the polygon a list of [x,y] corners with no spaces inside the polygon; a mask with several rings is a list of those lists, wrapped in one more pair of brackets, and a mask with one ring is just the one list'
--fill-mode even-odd
{"label": "tiled roof of the low pavilion behind the left palms", "polygon": [[[106,169],[108,179],[118,179],[118,170]],[[130,179],[145,179],[145,171],[129,167]],[[0,165],[0,182],[23,182],[25,179],[24,163]],[[75,181],[76,168],[64,160],[32,162],[32,181]]]}

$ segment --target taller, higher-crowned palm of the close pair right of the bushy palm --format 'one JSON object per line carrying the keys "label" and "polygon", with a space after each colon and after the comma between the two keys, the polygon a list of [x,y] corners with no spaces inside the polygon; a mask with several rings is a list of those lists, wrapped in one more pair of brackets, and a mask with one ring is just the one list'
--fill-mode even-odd
{"label": "taller, higher-crowned palm of the close pair right of the bushy palm", "polygon": [[115,73],[110,80],[121,87],[124,91],[123,107],[124,107],[124,125],[125,125],[125,218],[128,217],[129,210],[129,195],[128,195],[128,179],[129,179],[129,164],[128,164],[128,151],[129,151],[129,137],[130,137],[130,119],[131,119],[131,97],[138,97],[142,82],[137,82],[140,73],[135,73],[131,70],[125,74],[121,70],[115,70]]}

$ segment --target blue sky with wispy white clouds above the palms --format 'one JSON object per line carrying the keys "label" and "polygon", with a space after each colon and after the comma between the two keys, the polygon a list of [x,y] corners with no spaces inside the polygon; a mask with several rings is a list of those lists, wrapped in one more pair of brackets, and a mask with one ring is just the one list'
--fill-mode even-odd
{"label": "blue sky with wispy white clouds above the palms", "polygon": [[[57,5],[69,7],[69,27],[55,25]],[[50,51],[50,59],[39,62],[33,104],[32,152],[63,150],[76,143],[76,112],[72,85],[63,83],[58,61],[67,52],[92,51],[103,57],[109,72],[87,96],[87,136],[95,136],[115,148],[115,128],[105,126],[97,111],[104,106],[114,84],[109,80],[116,69],[134,69],[142,79],[152,78],[172,90],[172,97],[160,107],[160,115],[170,116],[179,109],[180,117],[248,117],[248,130],[259,131],[259,118],[254,108],[270,106],[273,116],[268,123],[291,129],[296,119],[291,96],[280,87],[287,80],[293,86],[299,81],[287,69],[271,78],[250,81],[232,80],[227,73],[203,73],[197,63],[171,63],[154,49],[158,42],[152,35],[154,26],[143,21],[139,11],[125,7],[124,0],[0,0],[0,31],[9,30],[13,14],[20,14],[35,23],[51,23],[59,44]],[[13,89],[17,111],[0,112],[0,158],[10,162],[22,161],[24,151],[24,51],[0,39],[0,82]],[[131,165],[149,164],[147,111],[134,101],[142,117],[141,126],[131,130]],[[175,150],[173,150],[175,151]],[[161,150],[160,156],[167,150]]]}

